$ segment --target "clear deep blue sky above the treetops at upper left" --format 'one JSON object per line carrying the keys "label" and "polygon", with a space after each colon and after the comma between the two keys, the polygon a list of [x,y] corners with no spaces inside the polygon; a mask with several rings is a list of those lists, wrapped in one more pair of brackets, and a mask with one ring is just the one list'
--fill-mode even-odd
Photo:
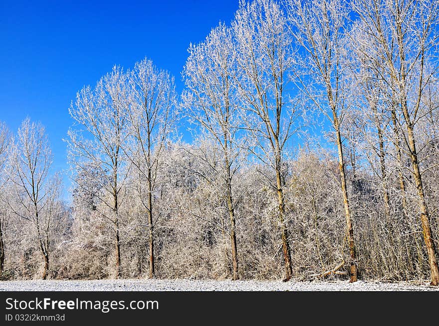
{"label": "clear deep blue sky above the treetops at upper left", "polygon": [[54,169],[66,171],[62,138],[78,90],[146,56],[176,77],[180,92],[189,43],[237,8],[238,0],[0,0],[0,120],[13,132],[26,116],[40,121]]}

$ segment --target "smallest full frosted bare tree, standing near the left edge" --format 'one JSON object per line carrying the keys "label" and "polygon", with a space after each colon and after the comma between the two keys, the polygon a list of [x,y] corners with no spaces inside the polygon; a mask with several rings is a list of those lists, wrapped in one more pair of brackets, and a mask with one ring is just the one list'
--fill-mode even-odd
{"label": "smallest full frosted bare tree, standing near the left edge", "polygon": [[[19,210],[13,212],[31,222],[34,238],[44,259],[41,278],[49,272],[50,231],[56,217],[60,179],[49,178],[52,153],[44,127],[26,118],[18,129],[10,156],[11,182]],[[11,208],[14,206],[10,206]]]}

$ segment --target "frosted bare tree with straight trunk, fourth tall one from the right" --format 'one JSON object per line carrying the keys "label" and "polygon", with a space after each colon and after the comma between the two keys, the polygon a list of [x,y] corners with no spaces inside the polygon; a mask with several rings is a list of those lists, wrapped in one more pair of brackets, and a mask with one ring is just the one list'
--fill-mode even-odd
{"label": "frosted bare tree with straight trunk, fourth tall one from the right", "polygon": [[239,278],[235,234],[235,196],[232,179],[238,168],[237,157],[242,148],[241,121],[238,112],[238,94],[234,81],[235,57],[229,28],[219,24],[198,45],[191,45],[183,76],[186,92],[183,105],[187,115],[207,137],[217,144],[222,153],[219,176],[221,190],[229,217],[229,237],[233,266],[232,279]]}

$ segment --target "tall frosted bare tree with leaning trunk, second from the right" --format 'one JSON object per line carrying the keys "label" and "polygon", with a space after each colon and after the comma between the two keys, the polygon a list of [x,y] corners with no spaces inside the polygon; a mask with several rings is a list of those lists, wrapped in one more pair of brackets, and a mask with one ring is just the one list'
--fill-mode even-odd
{"label": "tall frosted bare tree with leaning trunk, second from the right", "polygon": [[343,80],[346,72],[346,61],[343,58],[343,31],[349,16],[346,4],[344,0],[286,1],[291,33],[305,53],[302,62],[304,69],[304,76],[301,76],[302,91],[324,113],[334,129],[351,258],[351,282],[356,282],[357,249],[346,185],[346,159],[341,134],[349,96]]}

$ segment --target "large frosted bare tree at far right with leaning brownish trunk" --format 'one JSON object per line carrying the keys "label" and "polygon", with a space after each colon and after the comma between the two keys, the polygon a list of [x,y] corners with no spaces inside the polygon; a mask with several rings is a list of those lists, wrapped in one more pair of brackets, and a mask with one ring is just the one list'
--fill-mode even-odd
{"label": "large frosted bare tree at far right with leaning brownish trunk", "polygon": [[[392,90],[390,100],[395,104],[393,119],[406,145],[400,150],[406,151],[411,160],[432,285],[438,285],[439,267],[424,191],[417,128],[431,110],[423,104],[423,97],[439,69],[434,57],[439,37],[439,3],[429,0],[358,0],[353,3],[364,23],[362,28],[369,35],[365,41],[373,42],[378,49],[379,57],[369,55],[368,59],[384,62],[377,73]],[[429,63],[433,64],[432,69],[427,69]]]}

